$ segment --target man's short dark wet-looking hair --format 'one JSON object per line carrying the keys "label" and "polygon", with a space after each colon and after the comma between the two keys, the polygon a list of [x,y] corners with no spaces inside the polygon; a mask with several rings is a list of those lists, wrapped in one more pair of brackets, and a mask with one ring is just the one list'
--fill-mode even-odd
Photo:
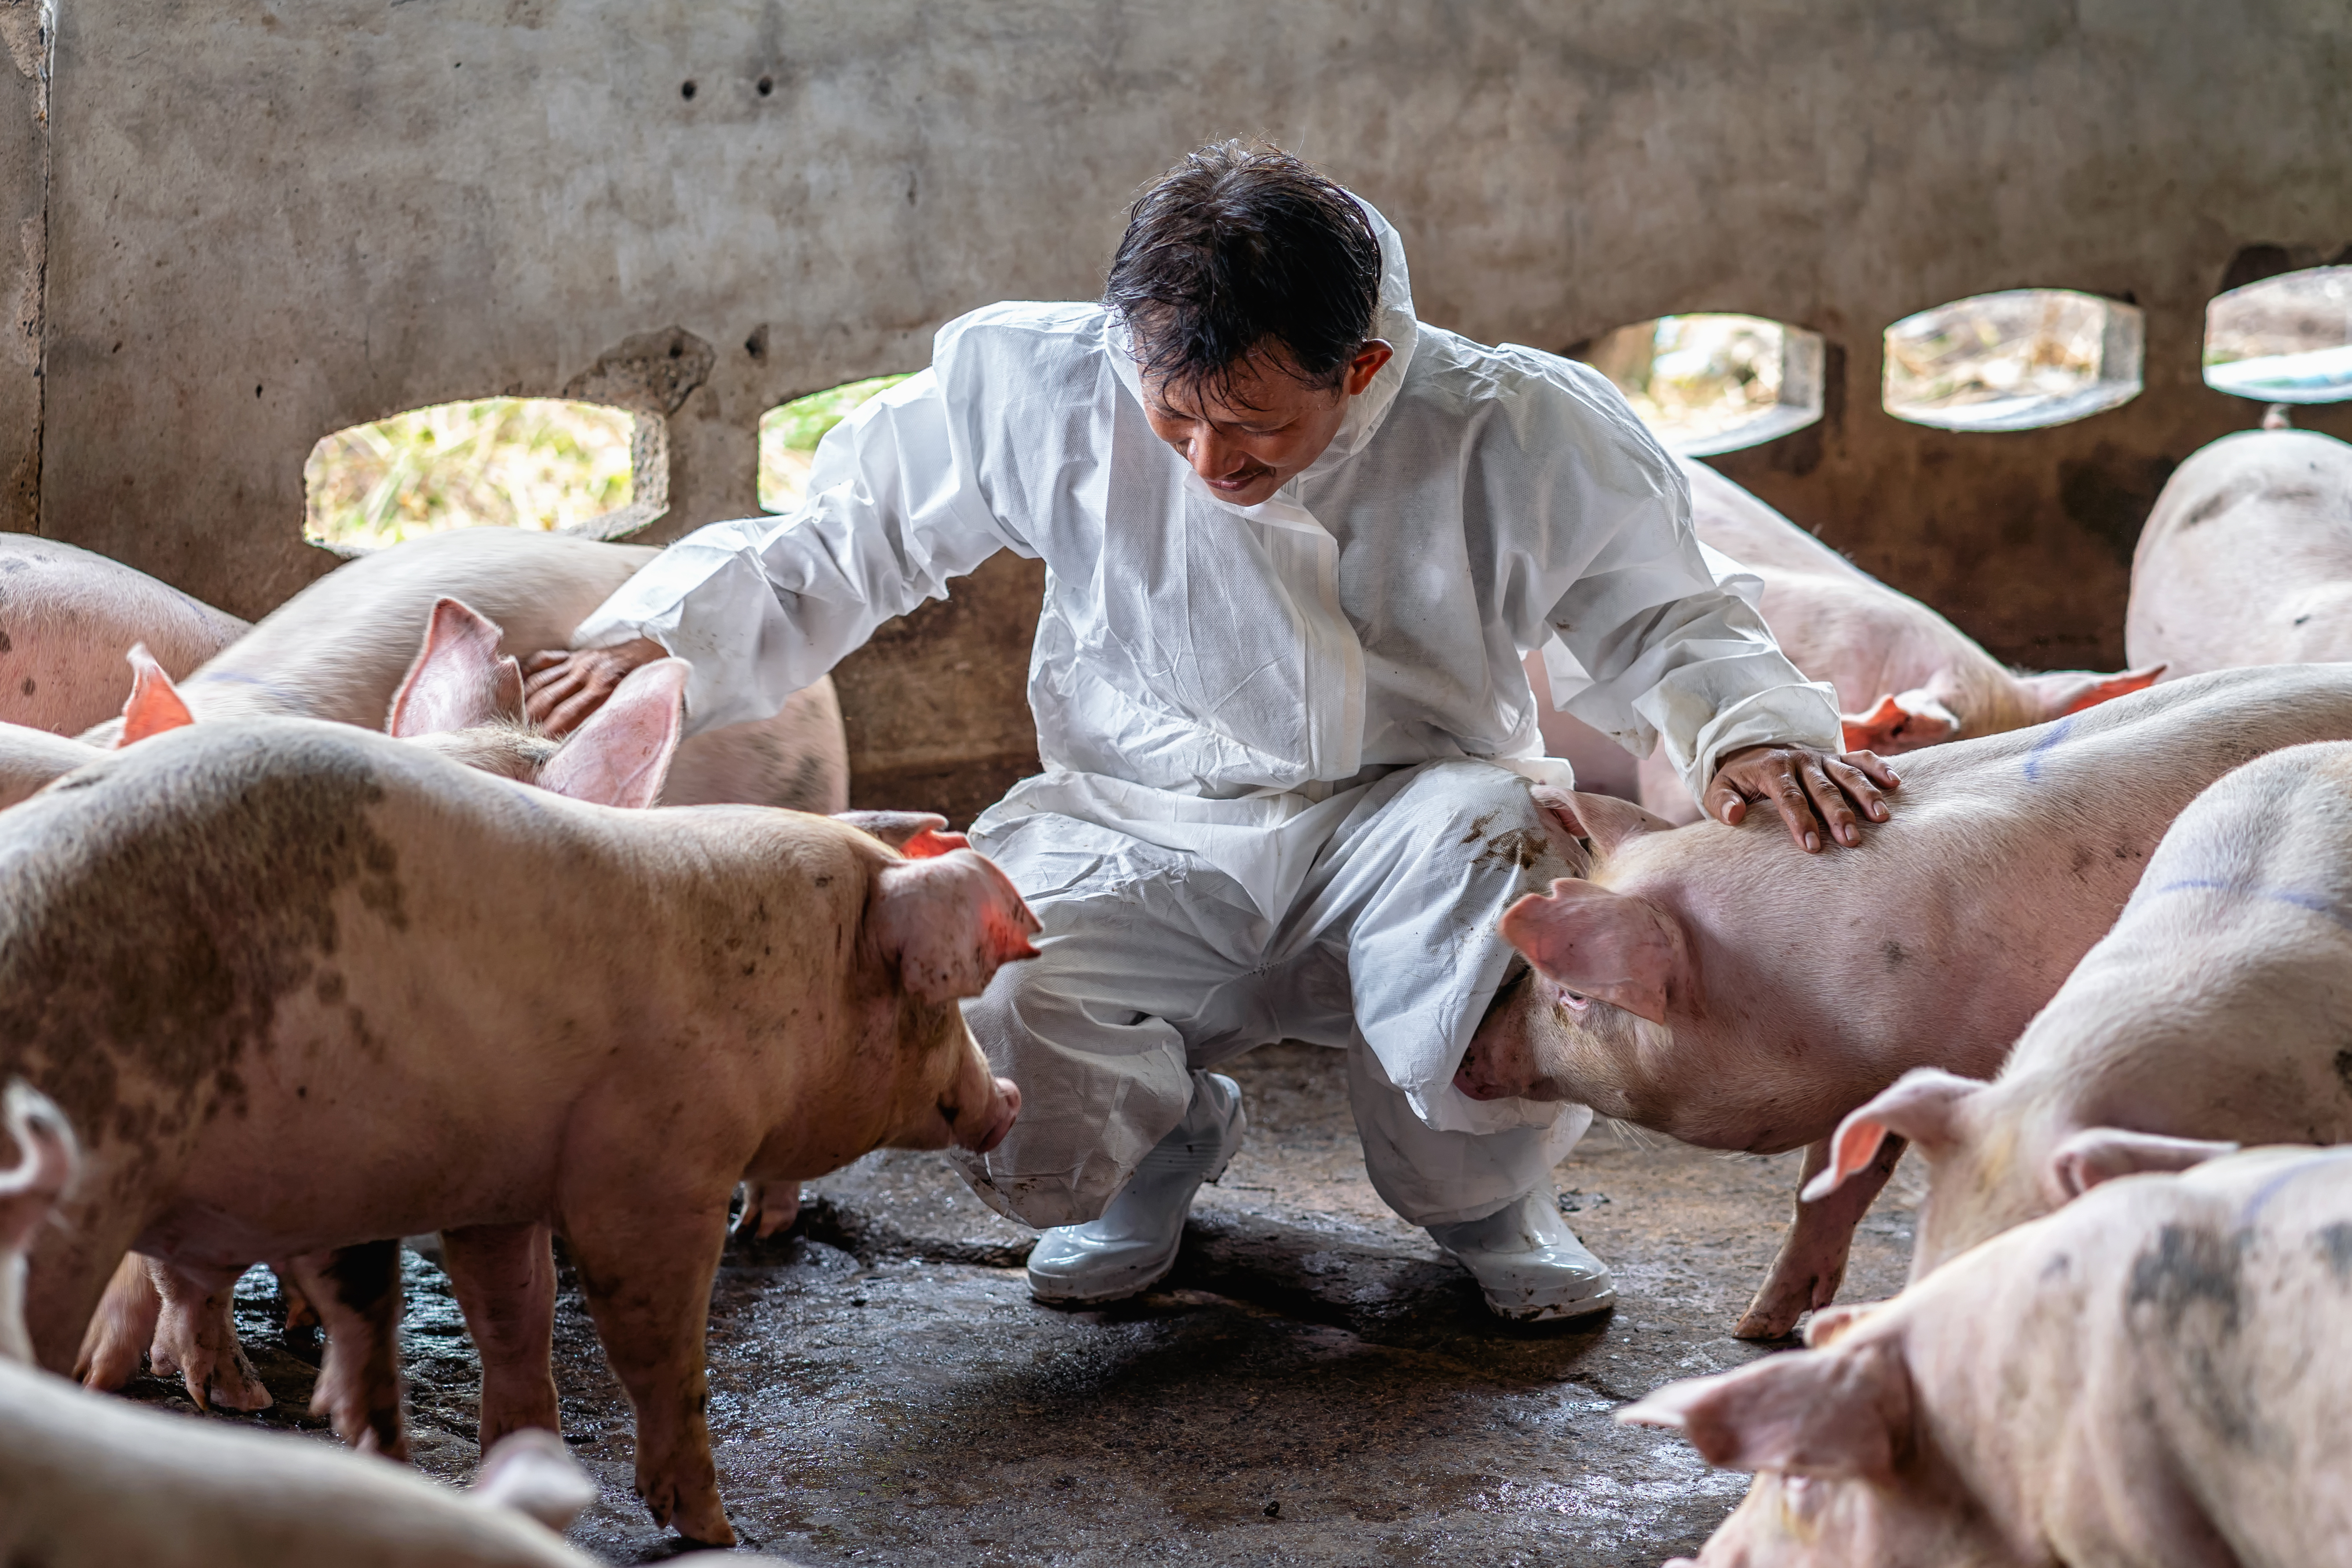
{"label": "man's short dark wet-looking hair", "polygon": [[1225,395],[1254,355],[1336,388],[1371,339],[1381,242],[1345,190],[1289,153],[1218,141],[1127,212],[1103,303],[1152,381]]}

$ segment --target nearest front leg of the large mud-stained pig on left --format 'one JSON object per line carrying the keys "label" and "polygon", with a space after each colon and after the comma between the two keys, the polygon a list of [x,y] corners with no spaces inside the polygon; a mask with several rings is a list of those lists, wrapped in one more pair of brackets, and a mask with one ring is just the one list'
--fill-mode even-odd
{"label": "nearest front leg of the large mud-stained pig on left", "polygon": [[586,1222],[567,1222],[564,1239],[604,1359],[637,1413],[637,1495],[654,1523],[694,1542],[731,1547],[734,1528],[720,1505],[710,1427],[703,1425],[710,1399],[703,1333],[710,1281],[727,1246],[724,1187],[694,1218],[616,1199]]}

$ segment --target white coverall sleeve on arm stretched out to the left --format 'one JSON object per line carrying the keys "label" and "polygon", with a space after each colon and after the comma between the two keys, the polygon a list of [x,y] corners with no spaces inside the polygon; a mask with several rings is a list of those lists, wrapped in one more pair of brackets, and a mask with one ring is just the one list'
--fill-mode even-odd
{"label": "white coverall sleeve on arm stretched out to the left", "polygon": [[877,625],[997,550],[1033,550],[985,505],[936,371],[917,371],[826,433],[809,498],[781,517],[713,522],[621,585],[576,649],[652,637],[689,661],[687,733],[767,719]]}

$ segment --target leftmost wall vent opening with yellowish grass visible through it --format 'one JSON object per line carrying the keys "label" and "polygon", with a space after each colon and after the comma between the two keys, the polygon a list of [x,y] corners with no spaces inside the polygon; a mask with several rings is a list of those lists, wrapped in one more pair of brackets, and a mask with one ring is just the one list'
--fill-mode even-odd
{"label": "leftmost wall vent opening with yellowish grass visible through it", "polygon": [[[656,421],[659,423],[659,421]],[[637,416],[560,397],[482,397],[336,430],[303,463],[303,536],[376,550],[449,529],[564,529],[609,538],[644,527]],[[659,451],[659,442],[652,442]]]}

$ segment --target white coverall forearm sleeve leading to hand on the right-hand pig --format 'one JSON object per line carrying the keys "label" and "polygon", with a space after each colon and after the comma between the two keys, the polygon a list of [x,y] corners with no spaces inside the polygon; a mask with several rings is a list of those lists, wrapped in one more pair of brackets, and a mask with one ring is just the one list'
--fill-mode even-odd
{"label": "white coverall forearm sleeve leading to hand on the right-hand pig", "polygon": [[1555,703],[1637,757],[1663,741],[1693,797],[1745,745],[1839,750],[1832,689],[1806,682],[1755,604],[1708,569],[1682,470],[1658,451],[1653,473],[1548,616]]}

